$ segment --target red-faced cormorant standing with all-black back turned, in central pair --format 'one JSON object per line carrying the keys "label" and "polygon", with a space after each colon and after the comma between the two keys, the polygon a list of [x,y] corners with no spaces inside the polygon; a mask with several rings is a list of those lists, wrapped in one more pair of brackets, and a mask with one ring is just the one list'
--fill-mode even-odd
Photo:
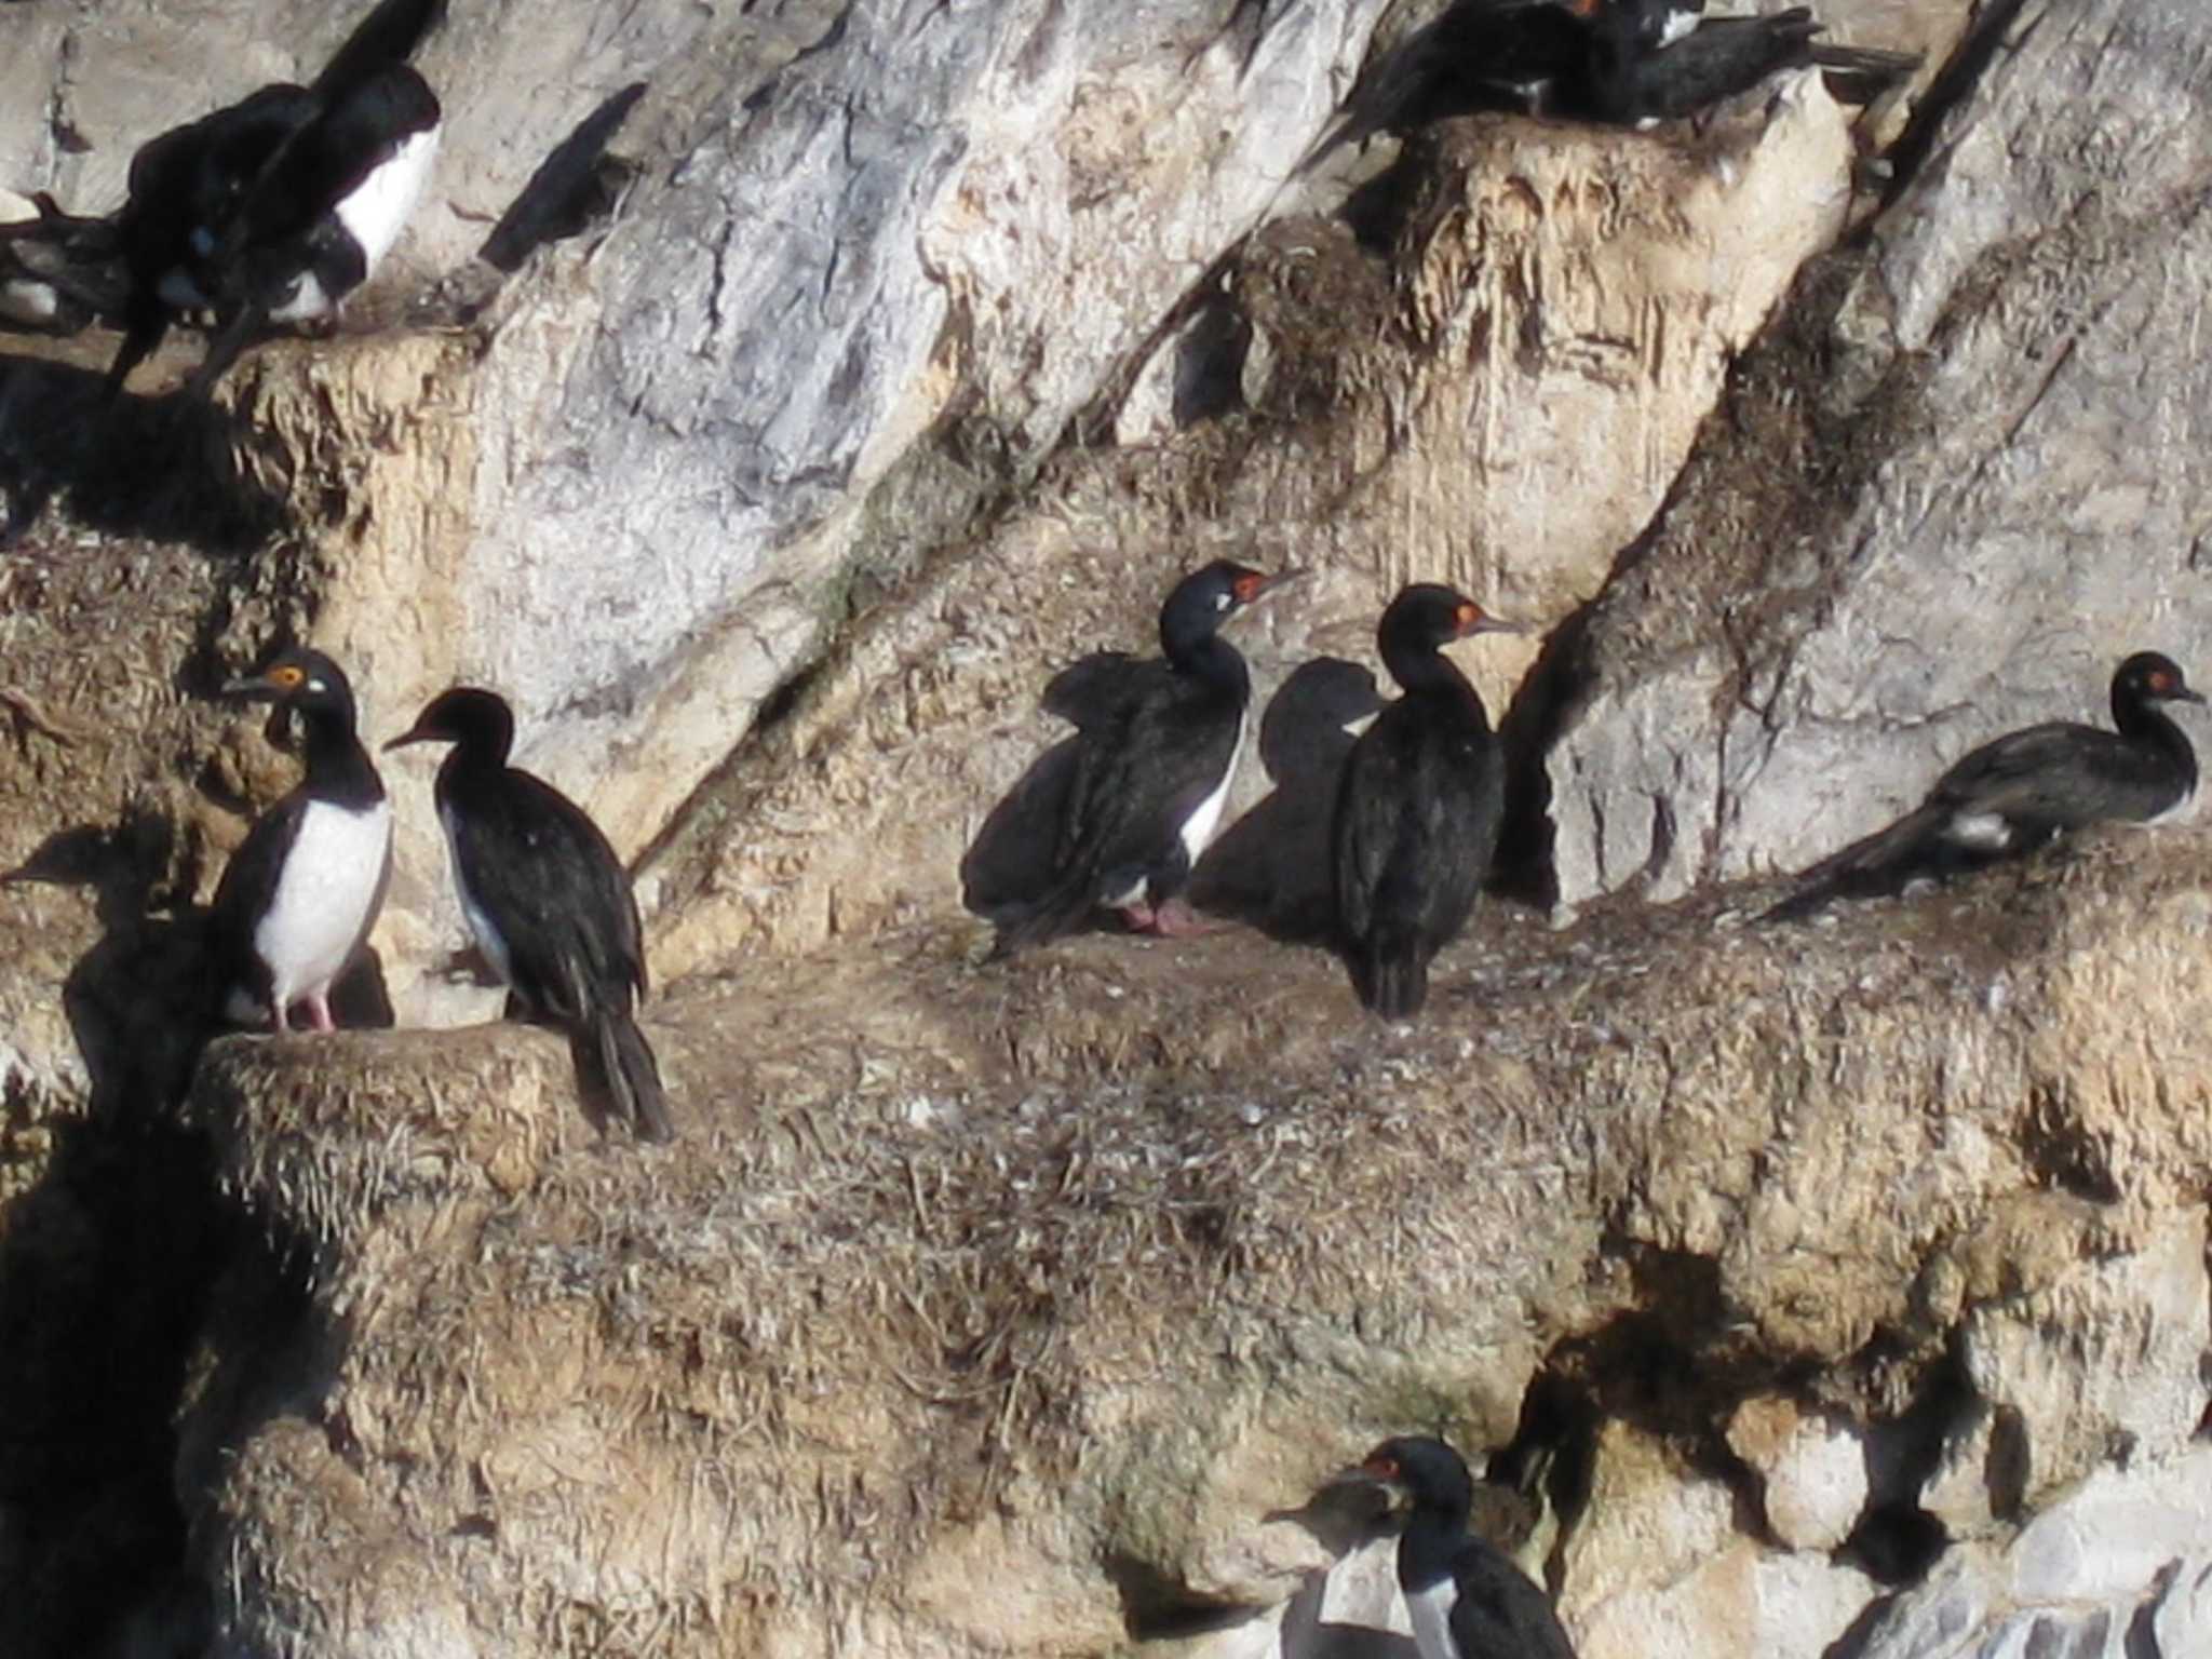
{"label": "red-faced cormorant standing with all-black back turned, in central pair", "polygon": [[1336,783],[1336,920],[1352,989],[1387,1020],[1420,1013],[1429,958],[1464,925],[1504,821],[1504,763],[1482,699],[1442,646],[1517,633],[1462,593],[1416,582],[1383,613],[1383,666],[1405,688]]}

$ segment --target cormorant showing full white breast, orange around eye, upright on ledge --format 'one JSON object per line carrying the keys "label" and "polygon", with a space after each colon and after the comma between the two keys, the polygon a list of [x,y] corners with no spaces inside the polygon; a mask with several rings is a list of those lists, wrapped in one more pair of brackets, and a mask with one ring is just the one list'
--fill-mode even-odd
{"label": "cormorant showing full white breast, orange around eye, upright on ledge", "polygon": [[330,1031],[330,987],[369,938],[392,876],[392,805],[354,732],[354,688],[321,650],[285,650],[230,697],[283,703],[299,719],[307,774],[261,814],[215,889],[210,989],[234,1024],[307,1004]]}

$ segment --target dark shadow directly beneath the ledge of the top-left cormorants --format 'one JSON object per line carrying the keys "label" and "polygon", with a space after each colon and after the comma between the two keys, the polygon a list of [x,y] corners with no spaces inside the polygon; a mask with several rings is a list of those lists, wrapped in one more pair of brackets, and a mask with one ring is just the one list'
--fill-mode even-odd
{"label": "dark shadow directly beneath the ledge of the top-left cormorants", "polygon": [[288,526],[288,502],[254,476],[257,438],[223,407],[170,394],[102,409],[102,376],[0,352],[0,540],[46,504],[95,531],[241,555]]}

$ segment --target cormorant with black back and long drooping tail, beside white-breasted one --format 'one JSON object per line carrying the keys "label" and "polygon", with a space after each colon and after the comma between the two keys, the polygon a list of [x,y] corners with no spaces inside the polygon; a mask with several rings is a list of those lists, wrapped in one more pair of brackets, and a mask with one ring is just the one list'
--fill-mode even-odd
{"label": "cormorant with black back and long drooping tail, beside white-breasted one", "polygon": [[469,933],[522,1011],[568,1033],[580,1075],[615,1115],[666,1141],[661,1071],[637,1029],[646,951],[630,876],[575,801],[507,763],[513,741],[507,699],[456,686],[385,750],[453,745],[436,799]]}

